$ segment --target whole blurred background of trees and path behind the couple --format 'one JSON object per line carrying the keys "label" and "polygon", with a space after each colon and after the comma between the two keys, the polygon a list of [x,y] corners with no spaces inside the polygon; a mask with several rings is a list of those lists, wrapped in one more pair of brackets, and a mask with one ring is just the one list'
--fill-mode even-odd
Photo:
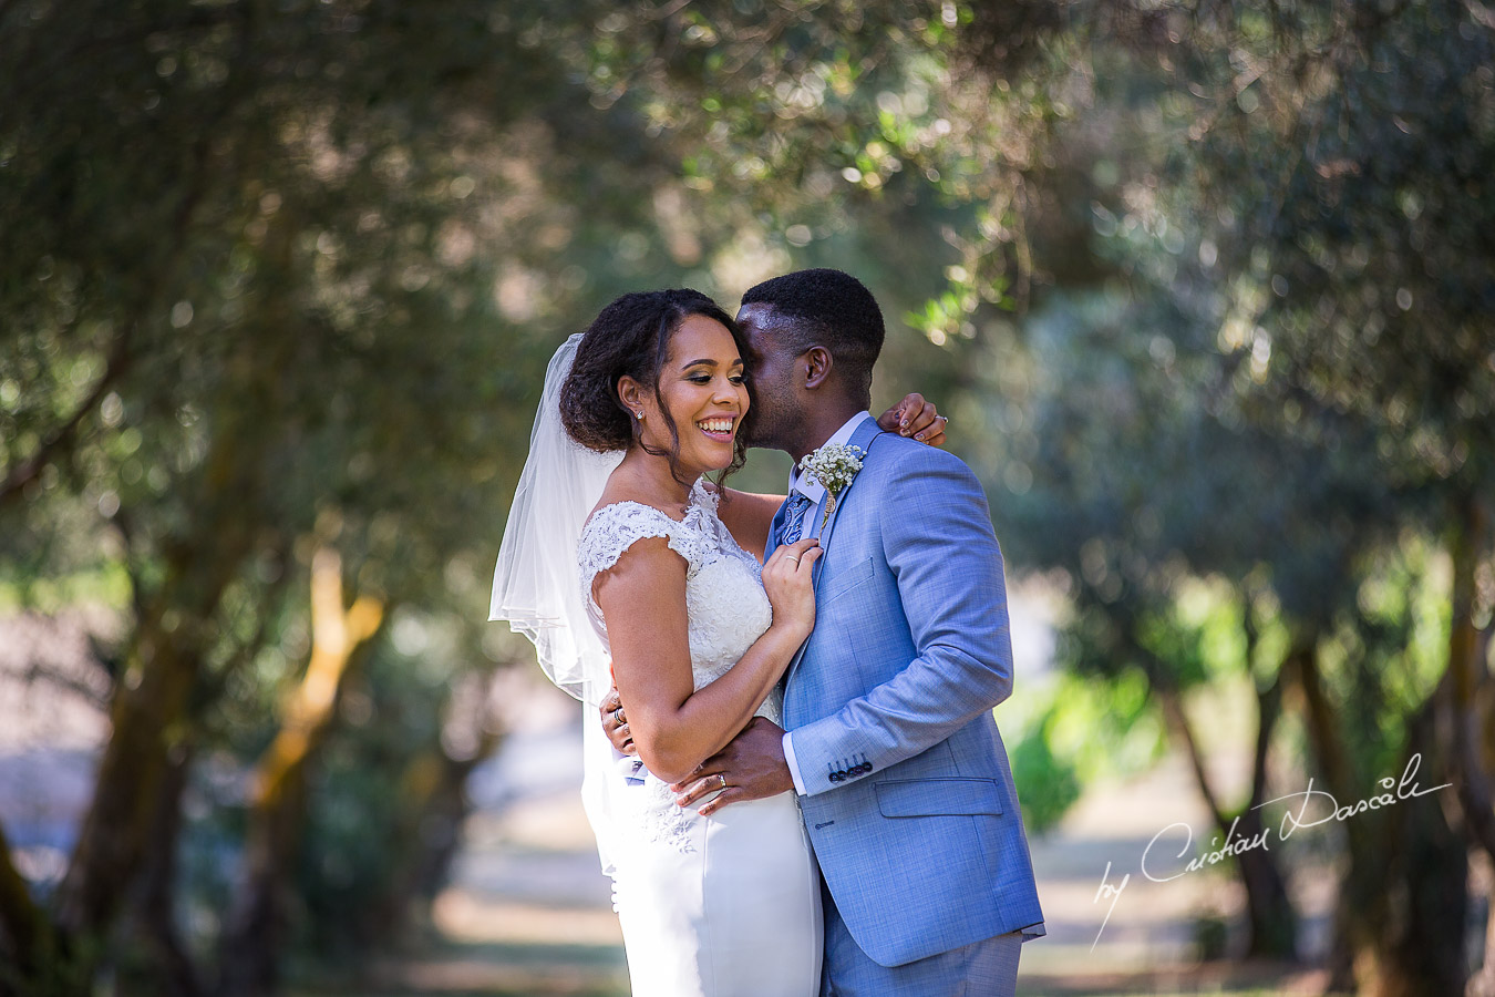
{"label": "whole blurred background of trees and path behind the couple", "polygon": [[1495,993],[1492,66],[1480,0],[0,0],[0,993],[626,993],[486,622],[544,366],[819,265],[1006,552],[1021,993]]}

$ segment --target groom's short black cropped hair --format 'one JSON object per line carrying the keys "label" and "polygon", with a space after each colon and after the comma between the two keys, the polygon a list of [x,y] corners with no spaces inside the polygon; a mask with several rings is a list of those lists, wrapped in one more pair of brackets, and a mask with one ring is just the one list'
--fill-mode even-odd
{"label": "groom's short black cropped hair", "polygon": [[785,348],[798,356],[825,347],[846,383],[872,398],[872,368],[882,353],[882,309],[872,291],[851,274],[818,268],[795,271],[758,284],[743,294],[745,305],[764,303],[792,321]]}

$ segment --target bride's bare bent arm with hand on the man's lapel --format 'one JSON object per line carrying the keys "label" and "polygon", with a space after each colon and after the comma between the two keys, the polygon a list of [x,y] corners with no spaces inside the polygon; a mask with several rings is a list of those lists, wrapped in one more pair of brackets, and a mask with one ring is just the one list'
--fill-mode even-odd
{"label": "bride's bare bent arm with hand on the man's lapel", "polygon": [[650,537],[597,575],[592,592],[607,622],[613,679],[649,771],[665,782],[688,777],[752,719],[815,626],[810,565],[818,556],[813,540],[774,552],[762,570],[773,625],[700,691],[691,673],[685,561]]}

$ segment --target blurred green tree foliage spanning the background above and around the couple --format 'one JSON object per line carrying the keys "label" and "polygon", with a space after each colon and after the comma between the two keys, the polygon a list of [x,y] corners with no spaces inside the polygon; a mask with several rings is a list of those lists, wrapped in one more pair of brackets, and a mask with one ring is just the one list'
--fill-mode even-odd
{"label": "blurred green tree foliage spanning the background above and around the couple", "polygon": [[312,553],[399,607],[296,870],[298,943],[356,945],[451,691],[520,656],[487,575],[555,345],[830,265],[1069,599],[1003,714],[1036,828],[1157,755],[1154,694],[1266,709],[1304,649],[1380,771],[1495,484],[1492,55],[1456,0],[0,4],[0,602],[193,662],[197,943]]}

